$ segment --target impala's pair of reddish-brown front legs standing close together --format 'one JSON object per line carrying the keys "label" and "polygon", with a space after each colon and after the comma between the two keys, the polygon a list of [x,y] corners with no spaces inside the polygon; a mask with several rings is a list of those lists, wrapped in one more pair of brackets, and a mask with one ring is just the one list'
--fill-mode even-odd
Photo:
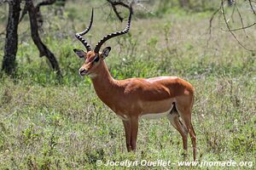
{"label": "impala's pair of reddish-brown front legs standing close together", "polygon": [[123,121],[125,127],[126,148],[128,151],[136,151],[138,118],[131,117],[129,120]]}

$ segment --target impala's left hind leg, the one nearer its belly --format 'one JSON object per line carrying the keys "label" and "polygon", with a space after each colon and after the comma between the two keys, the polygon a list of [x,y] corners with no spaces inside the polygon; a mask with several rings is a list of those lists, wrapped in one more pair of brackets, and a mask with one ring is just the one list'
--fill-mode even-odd
{"label": "impala's left hind leg, the one nearer its belly", "polygon": [[177,129],[177,132],[179,132],[183,138],[183,156],[184,159],[187,157],[187,150],[188,150],[188,130],[187,127],[183,125],[183,123],[179,120],[179,115],[177,113],[175,105],[173,106],[172,111],[169,115],[167,115],[167,118],[171,122],[172,126]]}

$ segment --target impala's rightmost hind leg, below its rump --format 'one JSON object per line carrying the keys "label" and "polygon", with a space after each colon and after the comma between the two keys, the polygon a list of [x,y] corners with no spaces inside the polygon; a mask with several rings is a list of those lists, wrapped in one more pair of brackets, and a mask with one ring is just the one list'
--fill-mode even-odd
{"label": "impala's rightmost hind leg, below its rump", "polygon": [[191,112],[192,112],[191,106],[185,107],[183,105],[177,105],[177,111],[189,131],[189,135],[190,135],[192,145],[193,145],[193,158],[195,161],[195,158],[196,158],[196,135],[195,135],[194,127],[192,126],[192,123],[191,123]]}

